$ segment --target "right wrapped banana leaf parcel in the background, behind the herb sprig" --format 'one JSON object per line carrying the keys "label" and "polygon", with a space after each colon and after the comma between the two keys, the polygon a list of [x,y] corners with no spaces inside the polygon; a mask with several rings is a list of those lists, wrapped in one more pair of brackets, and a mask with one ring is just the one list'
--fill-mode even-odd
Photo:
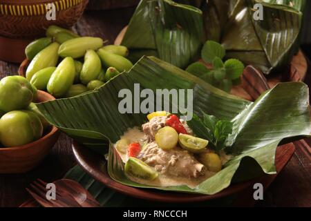
{"label": "right wrapped banana leaf parcel in the background, behind the herb sprig", "polygon": [[[263,20],[254,19],[253,7],[263,5]],[[290,62],[299,48],[305,0],[211,0],[204,8],[207,39],[218,41],[226,57],[269,74]]]}

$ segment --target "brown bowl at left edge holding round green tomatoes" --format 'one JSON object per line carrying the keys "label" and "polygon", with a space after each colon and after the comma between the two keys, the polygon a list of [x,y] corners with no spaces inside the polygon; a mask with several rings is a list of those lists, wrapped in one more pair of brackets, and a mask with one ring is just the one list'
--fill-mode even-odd
{"label": "brown bowl at left edge holding round green tomatoes", "polygon": [[[55,99],[52,95],[38,90],[37,102]],[[57,142],[59,130],[51,126],[39,140],[23,146],[0,147],[0,173],[26,173],[44,160],[50,149]]]}

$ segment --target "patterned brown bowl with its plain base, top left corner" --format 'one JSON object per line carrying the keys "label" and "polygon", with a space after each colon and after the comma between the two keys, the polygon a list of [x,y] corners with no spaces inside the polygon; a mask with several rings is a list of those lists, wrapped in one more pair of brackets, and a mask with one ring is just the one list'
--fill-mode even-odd
{"label": "patterned brown bowl with its plain base, top left corner", "polygon": [[[56,19],[46,19],[46,4],[54,3]],[[0,59],[19,63],[23,50],[50,25],[68,28],[82,16],[88,0],[0,1]]]}

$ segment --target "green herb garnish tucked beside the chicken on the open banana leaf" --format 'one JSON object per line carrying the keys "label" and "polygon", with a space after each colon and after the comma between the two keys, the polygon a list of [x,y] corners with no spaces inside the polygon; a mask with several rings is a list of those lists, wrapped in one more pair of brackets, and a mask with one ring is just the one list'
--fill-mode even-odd
{"label": "green herb garnish tucked beside the chicken on the open banana leaf", "polygon": [[203,112],[202,119],[194,114],[191,121],[187,123],[198,137],[209,141],[209,147],[213,148],[214,151],[223,150],[226,147],[228,135],[232,133],[232,122],[218,119]]}

